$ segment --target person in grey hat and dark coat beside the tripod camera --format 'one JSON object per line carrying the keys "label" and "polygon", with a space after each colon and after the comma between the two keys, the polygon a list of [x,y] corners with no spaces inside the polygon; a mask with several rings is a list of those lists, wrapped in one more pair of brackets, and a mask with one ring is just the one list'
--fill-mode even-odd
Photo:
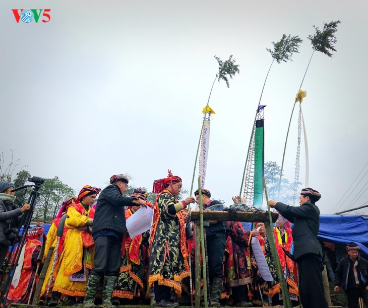
{"label": "person in grey hat and dark coat beside the tripod camera", "polygon": [[11,192],[14,188],[13,183],[0,182],[0,267],[4,263],[9,246],[16,241],[20,216],[31,208],[29,204],[24,204],[21,208],[16,207],[16,196]]}

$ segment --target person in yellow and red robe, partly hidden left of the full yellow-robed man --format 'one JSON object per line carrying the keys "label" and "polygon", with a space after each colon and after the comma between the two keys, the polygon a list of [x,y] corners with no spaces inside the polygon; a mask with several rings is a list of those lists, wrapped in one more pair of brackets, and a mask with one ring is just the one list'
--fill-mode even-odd
{"label": "person in yellow and red robe, partly hidden left of the full yellow-robed man", "polygon": [[[57,228],[59,226],[59,222],[60,219],[62,218],[62,216],[68,211],[68,208],[70,205],[74,204],[76,201],[75,197],[70,197],[66,200],[63,201],[62,207],[59,209],[59,212],[57,213],[55,219],[52,220],[51,224],[50,224],[50,228],[47,232],[47,236],[46,236],[46,245],[45,245],[45,252],[43,255],[43,260],[46,258],[47,252],[49,250],[50,247],[56,247],[56,242],[57,242]],[[64,235],[62,237],[62,239],[64,242],[65,236],[67,234],[68,228],[64,227]],[[63,242],[60,241],[59,243],[59,252],[62,250],[63,247]],[[55,250],[53,251],[51,260],[54,259],[54,254],[55,254]],[[43,261],[44,262],[44,261]],[[53,272],[53,279],[51,280],[51,284],[50,284],[50,290],[52,290],[53,288],[53,282],[55,281],[56,278],[56,274],[58,272],[58,268],[60,266],[60,262],[57,262],[55,264],[55,268],[54,268],[54,272]],[[42,285],[42,289],[41,289],[41,296],[40,296],[40,300],[38,301],[38,305],[43,306],[45,304],[45,296],[46,296],[46,292],[47,292],[47,285],[50,281],[50,274],[51,274],[51,268],[52,268],[52,262],[49,264],[48,268],[47,268],[47,272],[46,272],[46,276],[45,276],[45,280],[43,282]],[[51,293],[48,294],[48,298],[51,297]],[[54,293],[54,297],[59,297],[57,293]]]}

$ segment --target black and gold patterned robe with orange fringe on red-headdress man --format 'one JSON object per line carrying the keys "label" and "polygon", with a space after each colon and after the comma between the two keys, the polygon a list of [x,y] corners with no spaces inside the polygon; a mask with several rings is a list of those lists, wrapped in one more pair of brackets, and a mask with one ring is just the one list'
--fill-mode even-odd
{"label": "black and gold patterned robe with orange fringe on red-headdress man", "polygon": [[161,192],[153,205],[150,243],[149,285],[155,281],[181,294],[181,280],[190,275],[183,213],[171,215],[168,207],[178,203],[168,191]]}

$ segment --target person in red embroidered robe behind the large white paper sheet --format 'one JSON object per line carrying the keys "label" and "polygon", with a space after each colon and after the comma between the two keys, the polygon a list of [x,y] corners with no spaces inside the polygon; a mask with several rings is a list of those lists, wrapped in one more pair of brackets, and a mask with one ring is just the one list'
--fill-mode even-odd
{"label": "person in red embroidered robe behind the large white paper sheet", "polygon": [[[141,188],[135,189],[131,197],[146,201],[146,205],[153,207],[152,203],[147,201],[146,192]],[[140,205],[129,206],[125,211],[125,218],[128,220]],[[112,292],[111,303],[120,304],[121,299],[133,299],[145,294],[145,271],[147,269],[149,231],[131,239],[129,236],[122,242],[121,248],[121,267],[120,274],[116,279],[114,290]],[[147,281],[147,280],[146,280]]]}

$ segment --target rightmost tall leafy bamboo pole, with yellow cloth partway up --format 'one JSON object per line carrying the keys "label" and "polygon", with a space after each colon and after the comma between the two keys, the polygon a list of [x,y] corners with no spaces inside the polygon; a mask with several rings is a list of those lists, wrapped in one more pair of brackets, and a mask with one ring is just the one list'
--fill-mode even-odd
{"label": "rightmost tall leafy bamboo pole, with yellow cloth partway up", "polygon": [[[316,33],[314,35],[309,35],[308,36],[308,39],[311,41],[311,44],[312,44],[313,52],[312,52],[311,58],[309,59],[308,65],[306,66],[306,69],[305,69],[305,72],[304,72],[304,75],[303,75],[303,79],[301,80],[301,83],[300,83],[300,86],[299,86],[299,91],[301,90],[301,86],[303,85],[306,72],[308,71],[309,65],[311,64],[312,57],[313,57],[315,51],[320,51],[320,52],[326,54],[327,56],[329,56],[330,58],[332,57],[331,51],[335,51],[335,52],[337,51],[335,49],[335,44],[337,42],[337,39],[335,37],[335,33],[337,32],[337,26],[340,23],[341,22],[339,20],[338,21],[332,21],[328,24],[324,23],[323,30],[320,30],[318,27],[313,26],[316,30]],[[284,152],[283,152],[283,155],[282,155],[281,172],[280,172],[278,197],[277,198],[280,197],[281,179],[282,179],[282,171],[283,171],[283,168],[284,168],[287,138],[289,136],[291,119],[292,119],[295,104],[296,104],[297,101],[298,100],[295,99],[294,105],[293,105],[292,110],[291,110],[289,126],[287,127]]]}

